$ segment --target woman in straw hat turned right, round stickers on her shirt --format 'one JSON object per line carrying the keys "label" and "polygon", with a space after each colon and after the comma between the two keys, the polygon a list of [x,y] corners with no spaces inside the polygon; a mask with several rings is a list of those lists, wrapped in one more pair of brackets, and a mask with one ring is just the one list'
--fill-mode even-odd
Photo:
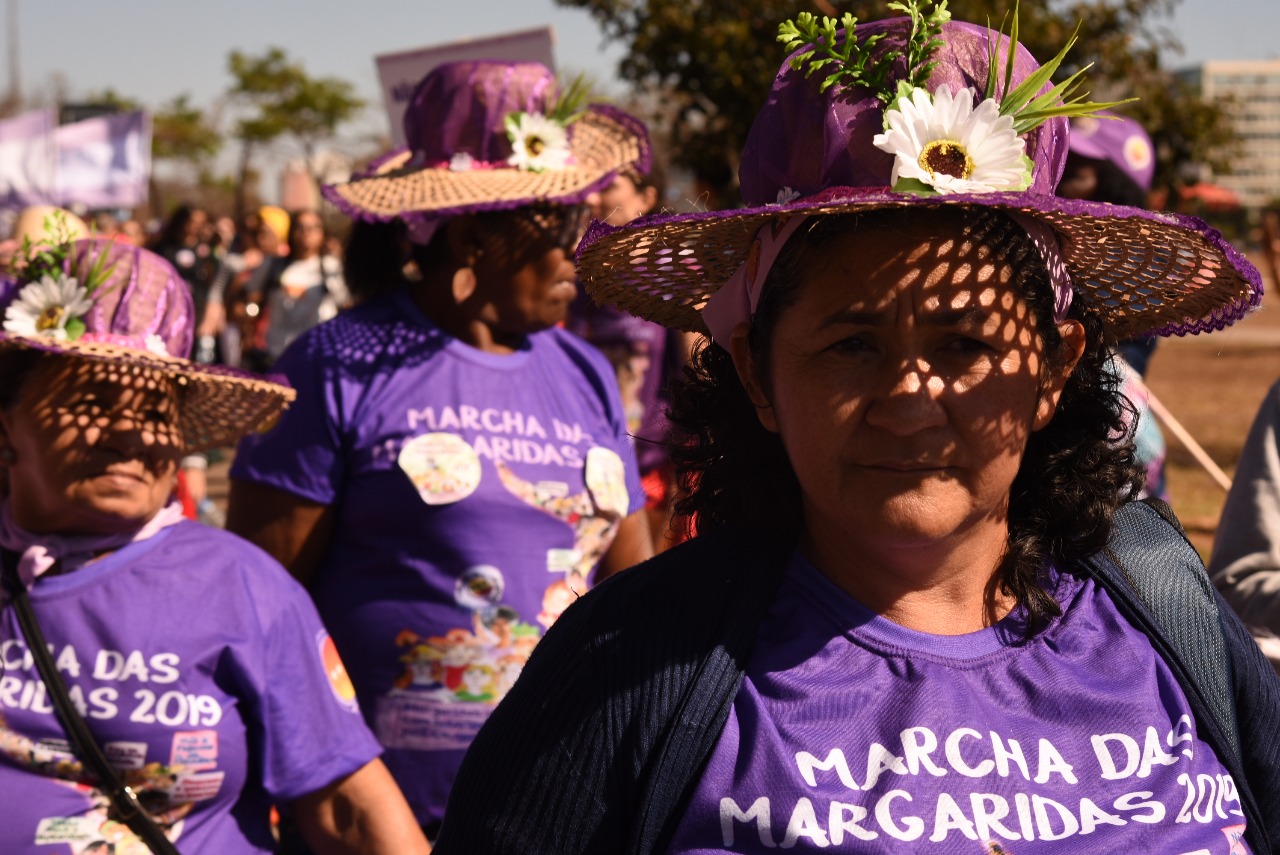
{"label": "woman in straw hat turned right, round stickers on her shirt", "polygon": [[298,403],[232,470],[230,527],[310,584],[429,833],[545,627],[650,550],[613,370],[556,328],[584,200],[646,169],[648,138],[570,95],[534,63],[419,84],[408,151],[326,189],[362,220],[353,242],[396,220],[411,259],[381,259],[390,293],[285,351]]}

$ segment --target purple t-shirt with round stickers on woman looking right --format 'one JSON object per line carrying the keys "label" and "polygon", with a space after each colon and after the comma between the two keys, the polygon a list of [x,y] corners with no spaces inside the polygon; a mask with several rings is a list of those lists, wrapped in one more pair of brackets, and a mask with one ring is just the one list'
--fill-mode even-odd
{"label": "purple t-shirt with round stickers on woman looking right", "polygon": [[420,822],[545,628],[644,507],[613,371],[552,329],[507,356],[407,294],[305,333],[233,477],[334,507],[312,595]]}

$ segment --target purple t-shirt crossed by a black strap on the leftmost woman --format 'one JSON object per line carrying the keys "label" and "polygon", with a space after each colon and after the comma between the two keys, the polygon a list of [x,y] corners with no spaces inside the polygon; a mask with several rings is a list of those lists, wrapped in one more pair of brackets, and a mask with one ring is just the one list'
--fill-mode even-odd
{"label": "purple t-shirt crossed by a black strap on the leftmost woman", "polygon": [[[184,852],[270,852],[273,801],[378,756],[306,591],[233,535],[180,522],[42,576],[31,602],[90,730]],[[0,627],[0,852],[147,851],[70,753],[13,608]]]}

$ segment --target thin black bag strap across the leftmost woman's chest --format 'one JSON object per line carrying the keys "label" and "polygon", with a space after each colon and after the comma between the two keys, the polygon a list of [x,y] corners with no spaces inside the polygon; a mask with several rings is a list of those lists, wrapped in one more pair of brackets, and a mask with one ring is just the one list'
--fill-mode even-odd
{"label": "thin black bag strap across the leftmost woman's chest", "polygon": [[178,849],[164,836],[160,827],[147,815],[133,790],[124,786],[124,782],[120,781],[120,777],[111,768],[110,762],[99,746],[97,740],[93,739],[93,733],[90,732],[88,724],[84,723],[79,710],[76,709],[76,704],[67,691],[67,683],[59,676],[54,658],[49,653],[49,643],[45,641],[45,634],[36,619],[36,612],[31,608],[27,589],[18,579],[17,553],[4,549],[3,561],[4,586],[17,612],[18,626],[22,627],[22,635],[27,640],[27,649],[36,662],[36,671],[40,672],[40,678],[44,681],[49,699],[58,713],[58,721],[61,722],[63,730],[67,731],[73,750],[84,765],[93,772],[99,786],[111,800],[111,805],[124,824],[129,827],[129,831],[137,835],[155,855],[180,855]]}

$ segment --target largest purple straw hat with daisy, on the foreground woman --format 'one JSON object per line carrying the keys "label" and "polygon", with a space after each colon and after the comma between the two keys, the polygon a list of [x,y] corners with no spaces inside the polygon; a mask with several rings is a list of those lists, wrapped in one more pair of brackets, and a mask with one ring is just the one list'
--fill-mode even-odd
{"label": "largest purple straw hat with daisy, on the foreground woman", "polygon": [[1059,312],[1087,300],[1117,338],[1221,329],[1258,305],[1258,271],[1201,220],[1052,195],[1068,116],[1115,106],[1078,96],[1078,74],[1051,84],[1066,49],[1042,67],[946,4],[906,5],[909,18],[801,13],[780,27],[794,52],[742,151],[746,207],[595,223],[577,256],[591,297],[727,340],[809,218],[923,205],[1011,216]]}

